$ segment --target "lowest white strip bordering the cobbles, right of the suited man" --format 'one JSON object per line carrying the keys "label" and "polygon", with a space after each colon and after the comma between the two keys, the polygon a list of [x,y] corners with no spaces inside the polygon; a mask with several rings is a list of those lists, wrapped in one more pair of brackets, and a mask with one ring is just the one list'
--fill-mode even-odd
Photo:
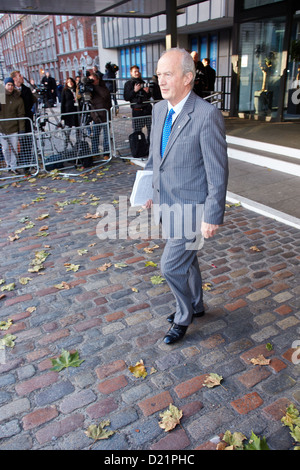
{"label": "lowest white strip bordering the cobbles, right of the suited man", "polygon": [[272,207],[265,206],[259,202],[251,201],[251,199],[231,193],[230,191],[227,191],[226,200],[232,204],[241,203],[245,209],[249,209],[253,212],[257,212],[258,214],[270,217],[271,219],[278,220],[279,222],[300,230],[300,219],[297,219],[297,217],[272,209]]}

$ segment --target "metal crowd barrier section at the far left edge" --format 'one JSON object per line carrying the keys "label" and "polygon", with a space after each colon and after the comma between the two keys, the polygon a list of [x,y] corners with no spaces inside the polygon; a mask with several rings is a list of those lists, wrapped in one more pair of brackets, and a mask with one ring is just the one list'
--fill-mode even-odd
{"label": "metal crowd barrier section at the far left edge", "polygon": [[[4,134],[5,123],[24,121],[30,132]],[[2,126],[4,124],[4,127]],[[0,181],[39,172],[39,162],[33,123],[29,118],[0,119]]]}

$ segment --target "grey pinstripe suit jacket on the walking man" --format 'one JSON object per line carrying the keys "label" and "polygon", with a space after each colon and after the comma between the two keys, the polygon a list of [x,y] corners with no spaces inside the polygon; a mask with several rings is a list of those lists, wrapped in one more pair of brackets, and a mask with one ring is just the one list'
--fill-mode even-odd
{"label": "grey pinstripe suit jacket on the walking man", "polygon": [[220,225],[228,181],[223,116],[192,91],[173,124],[162,159],[160,145],[167,111],[167,101],[161,101],[152,113],[150,152],[145,169],[153,170],[154,205],[183,208],[189,204],[193,207],[193,224],[199,209],[201,213],[204,211],[205,222]]}

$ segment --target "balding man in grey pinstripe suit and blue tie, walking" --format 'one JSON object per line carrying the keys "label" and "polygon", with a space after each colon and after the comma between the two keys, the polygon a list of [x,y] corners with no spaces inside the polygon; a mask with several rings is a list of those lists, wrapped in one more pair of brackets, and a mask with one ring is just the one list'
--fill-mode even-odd
{"label": "balding man in grey pinstripe suit and blue tie, walking", "polygon": [[146,208],[158,209],[163,230],[167,225],[161,272],[176,299],[164,337],[171,344],[183,338],[195,316],[204,315],[195,240],[214,236],[223,223],[228,158],[222,114],[192,91],[195,66],[190,54],[178,48],[164,52],[157,75],[164,101],[153,108],[145,168],[153,170],[153,199]]}

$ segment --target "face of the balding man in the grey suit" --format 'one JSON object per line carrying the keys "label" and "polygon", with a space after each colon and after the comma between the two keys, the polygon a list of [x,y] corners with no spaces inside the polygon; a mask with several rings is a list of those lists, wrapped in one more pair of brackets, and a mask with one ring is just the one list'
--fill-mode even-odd
{"label": "face of the balding man in the grey suit", "polygon": [[182,54],[170,51],[164,54],[157,64],[157,76],[163,99],[172,106],[178,104],[191,90],[192,72],[183,74]]}

